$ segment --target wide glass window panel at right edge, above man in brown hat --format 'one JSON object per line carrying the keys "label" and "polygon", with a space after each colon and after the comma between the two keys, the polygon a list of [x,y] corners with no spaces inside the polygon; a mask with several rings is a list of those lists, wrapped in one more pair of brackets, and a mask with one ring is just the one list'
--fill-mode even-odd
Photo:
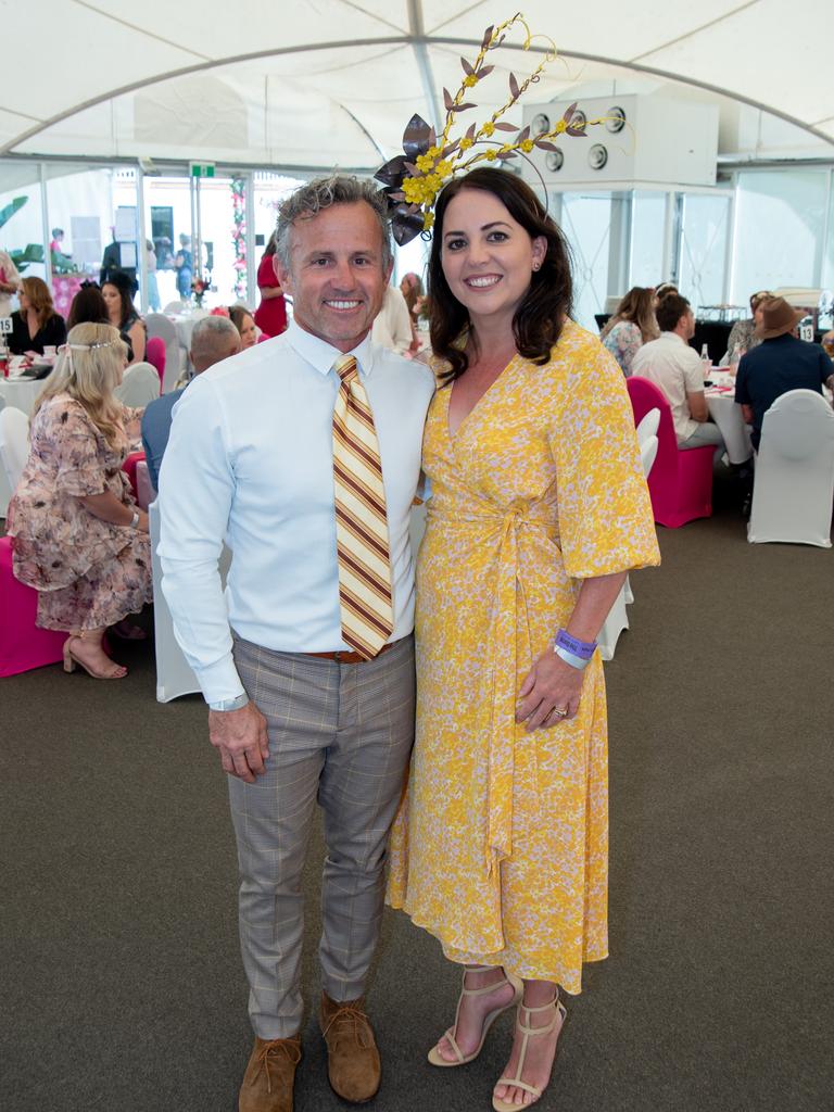
{"label": "wide glass window panel at right edge, above man in brown hat", "polygon": [[743,171],[736,195],[733,300],[777,286],[817,285],[827,171]]}

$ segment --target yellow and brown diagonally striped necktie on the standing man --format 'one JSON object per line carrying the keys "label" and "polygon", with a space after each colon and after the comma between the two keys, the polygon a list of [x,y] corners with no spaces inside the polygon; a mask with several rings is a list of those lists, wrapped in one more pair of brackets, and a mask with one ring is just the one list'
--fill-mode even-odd
{"label": "yellow and brown diagonally striped necktie on the standing man", "polygon": [[340,379],[332,415],[332,469],[341,636],[369,661],[394,629],[383,465],[356,359],[341,356],[334,369]]}

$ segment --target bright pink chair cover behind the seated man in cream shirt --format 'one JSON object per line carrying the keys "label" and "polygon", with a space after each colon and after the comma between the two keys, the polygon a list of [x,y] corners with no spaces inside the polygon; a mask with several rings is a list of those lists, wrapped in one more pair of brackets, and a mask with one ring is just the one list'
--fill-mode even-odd
{"label": "bright pink chair cover behind the seated man in cream shirt", "polygon": [[696,517],[711,517],[714,446],[681,451],[672,421],[672,408],[663,390],[639,375],[627,378],[626,388],[634,409],[635,425],[643,420],[649,409],[656,407],[661,410],[657,457],[648,476],[655,522],[677,529]]}

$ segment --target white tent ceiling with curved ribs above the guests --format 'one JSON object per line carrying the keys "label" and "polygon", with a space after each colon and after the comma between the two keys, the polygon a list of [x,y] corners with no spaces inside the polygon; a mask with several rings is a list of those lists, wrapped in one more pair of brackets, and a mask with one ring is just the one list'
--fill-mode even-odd
{"label": "white tent ceiling with curved ribs above the guests", "polygon": [[[485,27],[514,10],[498,0],[0,0],[11,30],[0,155],[373,169],[400,149],[414,111],[437,121],[460,54],[474,57]],[[735,103],[725,131],[742,102],[804,129],[782,128],[801,137],[782,135],[783,152],[832,156],[830,0],[526,0],[523,10],[562,54],[528,99],[677,82]],[[510,69],[537,61],[515,49],[519,37],[510,42],[477,90],[488,110],[504,102]],[[741,130],[724,149],[744,150]],[[761,143],[759,123],[752,148]]]}

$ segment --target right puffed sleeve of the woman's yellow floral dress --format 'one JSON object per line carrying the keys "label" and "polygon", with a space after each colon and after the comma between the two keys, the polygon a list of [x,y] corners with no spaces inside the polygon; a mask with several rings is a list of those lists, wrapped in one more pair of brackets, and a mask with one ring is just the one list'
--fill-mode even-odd
{"label": "right puffed sleeve of the woman's yellow floral dress", "polygon": [[565,569],[588,579],[659,564],[625,379],[590,337],[568,363],[549,434]]}

